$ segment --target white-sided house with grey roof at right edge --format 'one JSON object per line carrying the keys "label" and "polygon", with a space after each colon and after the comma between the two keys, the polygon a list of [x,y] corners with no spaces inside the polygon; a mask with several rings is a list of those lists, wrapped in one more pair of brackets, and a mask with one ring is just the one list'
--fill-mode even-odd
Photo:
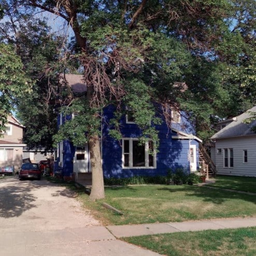
{"label": "white-sided house with grey roof at right edge", "polygon": [[215,141],[212,160],[215,161],[218,175],[256,177],[256,134],[251,129],[256,126],[256,120],[250,124],[244,123],[252,112],[256,113],[256,107],[233,118],[211,137]]}

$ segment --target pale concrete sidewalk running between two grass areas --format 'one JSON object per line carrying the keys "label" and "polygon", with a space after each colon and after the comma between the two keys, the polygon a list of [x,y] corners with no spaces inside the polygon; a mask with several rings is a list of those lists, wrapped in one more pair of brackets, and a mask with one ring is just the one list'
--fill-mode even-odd
{"label": "pale concrete sidewalk running between two grass areas", "polygon": [[120,238],[187,231],[237,229],[238,227],[250,226],[256,226],[256,217],[136,225],[108,225],[106,227],[115,237]]}

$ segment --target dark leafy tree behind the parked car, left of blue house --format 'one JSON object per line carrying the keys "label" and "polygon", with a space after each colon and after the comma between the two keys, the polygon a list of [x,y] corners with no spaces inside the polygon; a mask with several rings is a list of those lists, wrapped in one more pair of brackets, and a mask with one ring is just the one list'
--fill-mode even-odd
{"label": "dark leafy tree behind the parked car, left of blue house", "polygon": [[13,46],[34,81],[31,93],[16,97],[16,115],[26,127],[24,142],[29,148],[52,150],[58,116],[54,109],[61,99],[58,74],[67,66],[60,61],[65,59],[61,52],[66,37],[52,33],[47,20],[29,7],[6,1],[2,6],[5,18],[0,22],[0,41]]}

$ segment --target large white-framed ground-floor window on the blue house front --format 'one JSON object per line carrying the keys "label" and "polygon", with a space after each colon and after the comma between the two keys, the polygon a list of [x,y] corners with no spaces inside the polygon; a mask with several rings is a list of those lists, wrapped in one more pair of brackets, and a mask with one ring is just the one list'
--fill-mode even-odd
{"label": "large white-framed ground-floor window on the blue house front", "polygon": [[137,138],[122,141],[123,168],[156,168],[156,153],[152,140],[140,143]]}

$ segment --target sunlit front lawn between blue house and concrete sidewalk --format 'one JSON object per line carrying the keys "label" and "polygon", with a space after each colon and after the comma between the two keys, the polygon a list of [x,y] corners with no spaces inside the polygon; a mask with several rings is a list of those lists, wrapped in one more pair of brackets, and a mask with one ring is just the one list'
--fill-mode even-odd
{"label": "sunlit front lawn between blue house and concrete sidewalk", "polygon": [[[136,224],[211,218],[256,216],[256,196],[214,190],[206,186],[127,186],[105,189],[106,198],[95,203],[80,193],[86,208],[107,224]],[[102,206],[106,202],[120,216]]]}

